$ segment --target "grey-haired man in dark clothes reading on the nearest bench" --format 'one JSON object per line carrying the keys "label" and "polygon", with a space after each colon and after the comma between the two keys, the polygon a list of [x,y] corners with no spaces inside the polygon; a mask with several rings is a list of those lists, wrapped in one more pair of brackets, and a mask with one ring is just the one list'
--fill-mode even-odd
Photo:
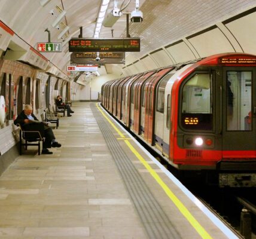
{"label": "grey-haired man in dark clothes reading on the nearest bench", "polygon": [[24,110],[18,115],[14,120],[14,124],[20,124],[23,130],[26,131],[39,131],[42,137],[45,139],[42,142],[42,154],[53,154],[53,152],[48,151],[47,148],[60,148],[60,143],[55,140],[53,130],[44,125],[43,122],[35,123],[33,121],[38,121],[34,114],[32,114],[33,108],[31,105],[25,105]]}

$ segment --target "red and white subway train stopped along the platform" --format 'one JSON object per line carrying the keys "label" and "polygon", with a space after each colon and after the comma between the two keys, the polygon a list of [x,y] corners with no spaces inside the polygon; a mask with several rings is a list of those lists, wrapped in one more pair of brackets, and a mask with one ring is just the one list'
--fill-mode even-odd
{"label": "red and white subway train stopped along the platform", "polygon": [[256,186],[256,56],[223,53],[102,85],[101,104],[178,171]]}

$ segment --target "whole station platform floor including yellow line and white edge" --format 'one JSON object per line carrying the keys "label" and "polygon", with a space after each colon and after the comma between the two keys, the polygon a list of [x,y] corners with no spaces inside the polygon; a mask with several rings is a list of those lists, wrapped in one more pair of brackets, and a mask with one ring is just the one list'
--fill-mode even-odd
{"label": "whole station platform floor including yellow line and white edge", "polygon": [[0,177],[0,238],[237,238],[97,103]]}

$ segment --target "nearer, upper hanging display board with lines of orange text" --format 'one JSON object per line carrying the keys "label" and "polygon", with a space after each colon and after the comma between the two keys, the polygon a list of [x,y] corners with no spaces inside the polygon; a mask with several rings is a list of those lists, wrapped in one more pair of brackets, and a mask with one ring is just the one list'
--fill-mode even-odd
{"label": "nearer, upper hanging display board with lines of orange text", "polygon": [[69,41],[70,52],[115,52],[140,51],[140,38],[72,38]]}

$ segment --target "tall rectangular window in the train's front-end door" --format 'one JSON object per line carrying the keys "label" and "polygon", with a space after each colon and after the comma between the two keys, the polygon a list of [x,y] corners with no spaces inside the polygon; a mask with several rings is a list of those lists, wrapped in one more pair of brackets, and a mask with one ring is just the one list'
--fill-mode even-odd
{"label": "tall rectangular window in the train's front-end door", "polygon": [[227,130],[252,130],[252,72],[227,71]]}

